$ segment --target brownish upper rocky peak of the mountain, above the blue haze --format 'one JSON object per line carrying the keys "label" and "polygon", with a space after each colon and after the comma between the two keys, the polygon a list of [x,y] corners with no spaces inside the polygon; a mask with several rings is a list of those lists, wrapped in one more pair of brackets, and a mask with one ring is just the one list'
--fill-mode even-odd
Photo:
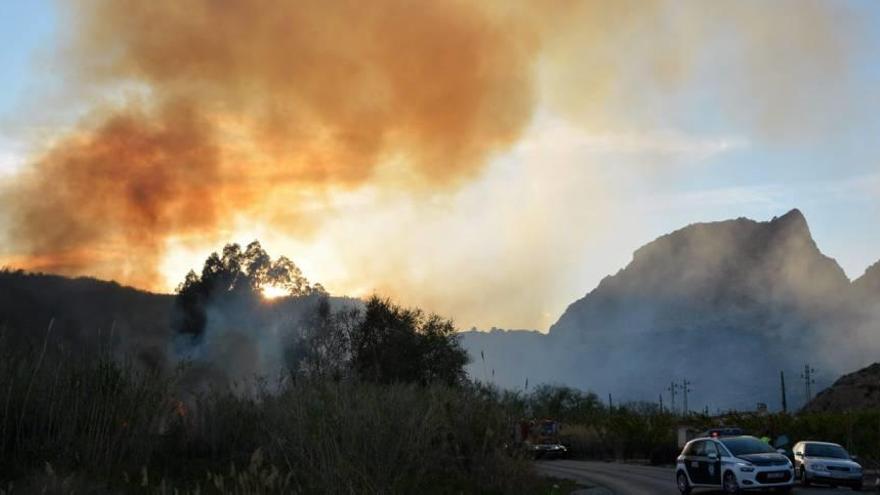
{"label": "brownish upper rocky peak of the mountain, above the blue haze", "polygon": [[776,308],[822,313],[839,304],[849,286],[797,209],[766,222],[697,223],[639,248],[626,268],[569,306],[551,333],[607,327],[609,318],[645,308],[670,315]]}

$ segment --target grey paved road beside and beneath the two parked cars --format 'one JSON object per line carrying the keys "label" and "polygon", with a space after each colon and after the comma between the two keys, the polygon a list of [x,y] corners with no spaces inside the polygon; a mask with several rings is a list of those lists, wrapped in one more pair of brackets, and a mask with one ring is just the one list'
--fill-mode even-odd
{"label": "grey paved road beside and beneath the two parked cars", "polygon": [[[671,468],[587,461],[537,461],[538,472],[547,476],[567,478],[609,488],[616,495],[679,495]],[[865,480],[866,492],[867,483]],[[873,482],[873,480],[871,480]],[[694,494],[719,494],[718,490],[694,490]],[[769,492],[768,492],[769,493]],[[797,487],[799,495],[841,495],[852,493],[849,488]]]}

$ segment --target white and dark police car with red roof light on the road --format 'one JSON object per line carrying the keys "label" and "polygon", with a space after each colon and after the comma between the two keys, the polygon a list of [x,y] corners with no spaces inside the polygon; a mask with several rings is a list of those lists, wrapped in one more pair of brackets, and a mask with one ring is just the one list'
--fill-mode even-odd
{"label": "white and dark police car with red roof light on the road", "polygon": [[794,466],[755,437],[695,438],[678,456],[675,480],[682,495],[703,487],[721,487],[724,493],[767,488],[788,492],[794,485]]}

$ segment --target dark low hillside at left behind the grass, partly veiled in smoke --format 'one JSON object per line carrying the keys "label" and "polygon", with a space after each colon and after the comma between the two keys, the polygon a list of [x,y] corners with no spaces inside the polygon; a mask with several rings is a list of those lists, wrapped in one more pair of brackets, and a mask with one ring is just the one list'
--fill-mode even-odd
{"label": "dark low hillside at left behind the grass, partly veiled in smoke", "polygon": [[[283,365],[283,339],[299,330],[317,296],[225,301],[209,309],[209,329],[199,339],[172,331],[174,296],[115,282],[0,271],[0,329],[4,338],[41,346],[53,321],[51,342],[89,356],[99,349],[153,368],[188,362],[193,387],[273,374]],[[360,304],[331,297],[334,309]]]}

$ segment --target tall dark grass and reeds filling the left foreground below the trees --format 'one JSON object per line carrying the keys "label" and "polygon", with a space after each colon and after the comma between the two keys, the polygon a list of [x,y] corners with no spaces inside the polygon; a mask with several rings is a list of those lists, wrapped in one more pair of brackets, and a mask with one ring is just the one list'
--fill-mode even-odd
{"label": "tall dark grass and reeds filling the left foreground below the trees", "polygon": [[0,335],[0,494],[534,493],[492,391],[186,372]]}

